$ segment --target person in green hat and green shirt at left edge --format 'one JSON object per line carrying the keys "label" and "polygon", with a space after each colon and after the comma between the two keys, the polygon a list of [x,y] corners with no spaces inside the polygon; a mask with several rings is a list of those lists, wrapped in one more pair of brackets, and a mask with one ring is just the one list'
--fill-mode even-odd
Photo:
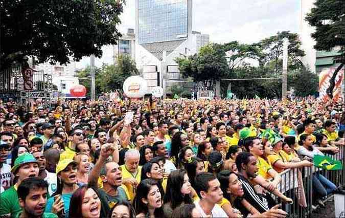
{"label": "person in green hat and green shirt at left edge", "polygon": [[0,217],[14,217],[21,211],[17,193],[18,186],[29,177],[37,177],[38,171],[38,163],[31,154],[25,153],[15,160],[11,172],[17,177],[17,182],[0,195]]}

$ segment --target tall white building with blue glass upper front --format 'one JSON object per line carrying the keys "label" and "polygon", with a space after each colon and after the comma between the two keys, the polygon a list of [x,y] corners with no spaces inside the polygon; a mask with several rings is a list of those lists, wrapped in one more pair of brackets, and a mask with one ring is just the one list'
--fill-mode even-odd
{"label": "tall white building with blue glass upper front", "polygon": [[161,86],[164,97],[181,82],[177,57],[193,55],[210,37],[192,31],[192,0],[135,0],[135,62],[149,91]]}

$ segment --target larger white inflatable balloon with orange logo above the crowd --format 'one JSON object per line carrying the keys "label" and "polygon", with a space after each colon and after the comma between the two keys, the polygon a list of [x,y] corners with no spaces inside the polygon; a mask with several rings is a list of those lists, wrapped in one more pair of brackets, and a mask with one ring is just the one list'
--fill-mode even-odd
{"label": "larger white inflatable balloon with orange logo above the crowd", "polygon": [[147,94],[147,81],[140,76],[130,76],[123,83],[123,92],[128,98],[142,98]]}

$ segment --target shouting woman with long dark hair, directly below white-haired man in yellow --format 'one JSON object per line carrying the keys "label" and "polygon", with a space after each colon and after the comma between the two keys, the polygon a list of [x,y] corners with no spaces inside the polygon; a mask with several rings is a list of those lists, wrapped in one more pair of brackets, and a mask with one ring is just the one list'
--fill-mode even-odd
{"label": "shouting woman with long dark hair, directly below white-haired man in yellow", "polygon": [[133,201],[136,217],[164,217],[162,203],[157,181],[145,179],[136,187]]}

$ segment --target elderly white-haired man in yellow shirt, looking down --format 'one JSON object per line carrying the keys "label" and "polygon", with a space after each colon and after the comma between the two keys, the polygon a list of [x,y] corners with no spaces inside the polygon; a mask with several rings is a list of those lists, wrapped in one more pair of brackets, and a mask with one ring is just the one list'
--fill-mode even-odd
{"label": "elderly white-haired man in yellow shirt, looking down", "polygon": [[142,167],[139,166],[139,159],[139,151],[129,149],[125,154],[125,164],[121,165],[122,183],[127,187],[130,199],[134,199],[136,186],[141,181]]}

